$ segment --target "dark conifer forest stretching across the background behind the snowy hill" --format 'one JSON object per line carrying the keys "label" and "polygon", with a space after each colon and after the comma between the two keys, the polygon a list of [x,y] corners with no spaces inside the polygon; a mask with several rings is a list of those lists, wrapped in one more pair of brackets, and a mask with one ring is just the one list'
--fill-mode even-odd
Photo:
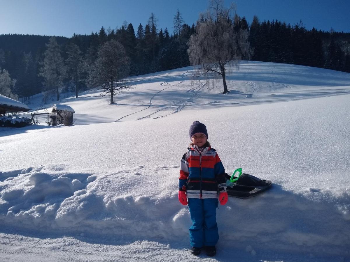
{"label": "dark conifer forest stretching across the background behind the snowy hill", "polygon": [[[244,16],[235,15],[233,21],[236,32],[248,34],[252,55],[243,59],[350,72],[350,33],[307,30],[301,21],[294,26],[278,20],[260,22],[257,16],[251,24]],[[74,91],[78,96],[78,91],[91,87],[91,75],[101,60],[99,51],[111,40],[121,44],[128,61],[123,77],[189,66],[188,41],[201,21],[189,26],[177,10],[173,34],[167,28],[158,30],[157,22],[152,13],[136,31],[125,21],[115,30],[102,27],[91,35],[74,33],[71,38],[0,35],[0,94],[24,100],[54,89],[59,100],[58,87],[64,86],[62,92]]]}

